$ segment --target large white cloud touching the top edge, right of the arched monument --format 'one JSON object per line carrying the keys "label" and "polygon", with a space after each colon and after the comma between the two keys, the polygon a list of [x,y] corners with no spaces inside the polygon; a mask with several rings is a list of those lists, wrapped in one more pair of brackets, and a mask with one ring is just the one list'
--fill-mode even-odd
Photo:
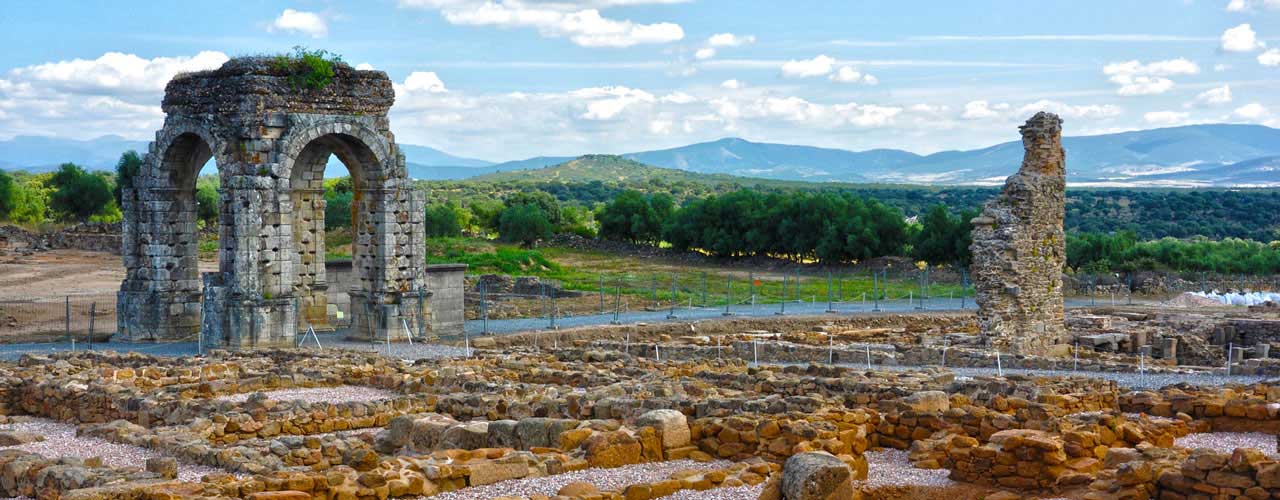
{"label": "large white cloud touching the top edge, right of the arched monument", "polygon": [[401,6],[439,10],[452,24],[535,28],[549,38],[568,38],[584,47],[630,47],[668,43],[685,37],[675,23],[640,24],[600,15],[618,5],[672,4],[672,0],[401,0]]}

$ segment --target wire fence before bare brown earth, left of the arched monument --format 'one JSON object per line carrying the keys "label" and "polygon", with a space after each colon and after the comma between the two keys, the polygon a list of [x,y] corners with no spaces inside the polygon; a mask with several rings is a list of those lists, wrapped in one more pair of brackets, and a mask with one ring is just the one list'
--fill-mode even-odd
{"label": "wire fence before bare brown earth, left of the arched monument", "polygon": [[115,332],[115,294],[0,301],[0,339],[102,340]]}

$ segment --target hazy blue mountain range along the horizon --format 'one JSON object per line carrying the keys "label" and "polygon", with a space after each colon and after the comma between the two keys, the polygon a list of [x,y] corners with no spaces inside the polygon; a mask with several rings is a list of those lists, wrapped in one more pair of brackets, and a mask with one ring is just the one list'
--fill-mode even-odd
{"label": "hazy blue mountain range along the horizon", "polygon": [[[1068,182],[1097,187],[1280,187],[1280,129],[1202,124],[1101,136],[1066,137]],[[0,141],[0,168],[47,170],[64,161],[109,169],[125,150],[146,143],[120,137],[68,141],[15,137]],[[467,179],[541,169],[572,156],[493,164],[426,146],[401,145],[415,179]],[[669,150],[621,155],[641,164],[703,174],[781,180],[1000,184],[1021,162],[1020,142],[980,150],[916,155],[900,150],[846,151],[723,138]],[[346,169],[330,161],[330,174]]]}

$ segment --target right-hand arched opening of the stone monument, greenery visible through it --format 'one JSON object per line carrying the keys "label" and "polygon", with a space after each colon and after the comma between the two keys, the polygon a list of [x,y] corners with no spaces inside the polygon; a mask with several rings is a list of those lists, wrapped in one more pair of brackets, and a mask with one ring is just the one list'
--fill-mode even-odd
{"label": "right-hand arched opening of the stone monument, greenery visible through it", "polygon": [[[342,175],[338,164],[348,175]],[[376,175],[370,176],[378,171],[374,151],[360,138],[340,133],[312,139],[294,160],[289,173],[296,272],[292,285],[298,298],[300,330],[346,327],[364,312],[352,311],[357,301],[351,293],[370,288],[367,261],[375,242],[367,225],[361,224],[361,207],[364,189],[376,182]],[[330,234],[337,244],[329,244]]]}

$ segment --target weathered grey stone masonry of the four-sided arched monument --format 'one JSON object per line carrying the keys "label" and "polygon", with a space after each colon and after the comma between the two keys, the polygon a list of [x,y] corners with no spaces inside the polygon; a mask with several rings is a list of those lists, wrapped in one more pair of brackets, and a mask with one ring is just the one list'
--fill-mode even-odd
{"label": "weathered grey stone masonry of the four-sided arched monument", "polygon": [[[333,69],[317,90],[262,58],[169,82],[164,128],[124,189],[120,335],[195,339],[204,326],[214,347],[289,345],[300,325],[324,324],[330,155],[355,191],[352,334],[421,330],[422,194],[411,189],[390,132],[392,82],[383,72]],[[221,182],[219,265],[201,279],[195,193],[210,159]]]}

